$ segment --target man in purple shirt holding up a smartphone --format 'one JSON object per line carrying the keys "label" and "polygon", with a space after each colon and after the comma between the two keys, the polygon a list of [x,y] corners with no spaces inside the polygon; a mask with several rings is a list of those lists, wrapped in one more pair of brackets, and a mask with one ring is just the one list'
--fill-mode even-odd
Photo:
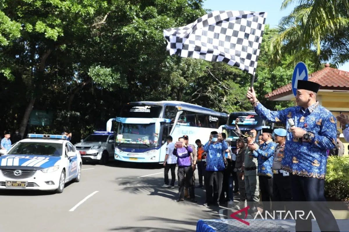
{"label": "man in purple shirt holding up a smartphone", "polygon": [[[193,152],[191,146],[187,146],[185,144],[184,138],[180,137],[178,139],[182,145],[176,143],[174,145],[173,155],[177,156],[177,175],[178,175],[178,199],[177,201],[184,201],[184,181],[186,182],[186,186],[190,187],[193,184],[193,169],[191,164],[190,154]],[[190,191],[190,199],[192,202],[196,202],[195,194],[193,191]]]}

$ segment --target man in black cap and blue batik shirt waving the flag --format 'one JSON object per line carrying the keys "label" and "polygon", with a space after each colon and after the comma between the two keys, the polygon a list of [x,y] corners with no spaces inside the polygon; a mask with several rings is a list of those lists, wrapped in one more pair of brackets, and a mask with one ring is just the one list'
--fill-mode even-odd
{"label": "man in black cap and blue batik shirt waving the flag", "polygon": [[[286,123],[288,133],[281,169],[291,173],[292,200],[306,201],[306,206],[310,207],[321,231],[339,231],[324,196],[326,151],[333,149],[336,144],[337,126],[333,114],[316,101],[319,89],[318,83],[299,80],[297,106],[281,111],[266,109],[258,101],[253,88],[247,91],[246,97],[263,119]],[[294,121],[294,126],[290,126],[288,119]],[[297,203],[295,205],[297,207]],[[302,220],[297,217],[296,231],[312,230],[312,217],[307,218]]]}

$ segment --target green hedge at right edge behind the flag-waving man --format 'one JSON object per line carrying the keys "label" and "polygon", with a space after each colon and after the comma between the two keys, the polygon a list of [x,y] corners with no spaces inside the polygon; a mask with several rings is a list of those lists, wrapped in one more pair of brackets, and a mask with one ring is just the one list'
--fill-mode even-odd
{"label": "green hedge at right edge behind the flag-waving man", "polygon": [[349,156],[328,157],[325,195],[334,200],[349,201]]}

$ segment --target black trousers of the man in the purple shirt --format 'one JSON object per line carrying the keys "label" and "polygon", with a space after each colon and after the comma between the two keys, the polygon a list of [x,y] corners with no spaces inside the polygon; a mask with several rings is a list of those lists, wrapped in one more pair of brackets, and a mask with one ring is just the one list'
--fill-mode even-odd
{"label": "black trousers of the man in the purple shirt", "polygon": [[[193,170],[192,166],[189,167],[178,167],[177,170],[178,175],[178,198],[184,199],[184,182],[186,183],[186,186],[188,186],[190,189],[193,187]],[[190,192],[190,198],[195,199],[195,193],[194,191]]]}

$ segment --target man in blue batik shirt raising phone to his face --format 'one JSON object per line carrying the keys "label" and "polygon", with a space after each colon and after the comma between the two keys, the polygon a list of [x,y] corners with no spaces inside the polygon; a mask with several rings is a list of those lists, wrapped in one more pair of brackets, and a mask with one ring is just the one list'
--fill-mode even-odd
{"label": "man in blue batik shirt raising phone to his face", "polygon": [[[224,166],[224,152],[228,149],[227,142],[217,131],[212,131],[209,141],[203,146],[208,154],[206,159],[206,206],[218,206],[217,199],[213,199],[213,193],[221,195]],[[216,182],[214,185],[213,182]],[[215,190],[213,189],[215,187]]]}

